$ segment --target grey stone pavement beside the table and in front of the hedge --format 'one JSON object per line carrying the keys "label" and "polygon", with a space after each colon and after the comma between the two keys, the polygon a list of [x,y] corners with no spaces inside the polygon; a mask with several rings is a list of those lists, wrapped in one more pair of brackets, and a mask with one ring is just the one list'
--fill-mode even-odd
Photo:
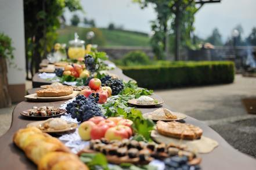
{"label": "grey stone pavement beside the table and in front of the hedge", "polygon": [[[155,93],[173,110],[204,121],[233,147],[256,157],[256,115],[247,114],[241,103],[244,97],[256,97],[256,78],[236,75],[233,84],[167,89]],[[0,109],[0,136],[9,129],[14,106]]]}

